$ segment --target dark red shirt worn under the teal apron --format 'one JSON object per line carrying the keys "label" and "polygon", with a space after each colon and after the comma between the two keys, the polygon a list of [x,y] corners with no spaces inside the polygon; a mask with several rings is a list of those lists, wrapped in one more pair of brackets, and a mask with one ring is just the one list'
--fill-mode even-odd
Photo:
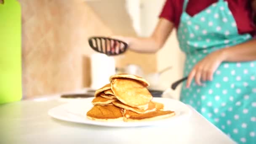
{"label": "dark red shirt worn under the teal apron", "polygon": [[[218,0],[189,0],[186,12],[190,16],[194,16],[203,11],[209,5],[216,3]],[[225,0],[229,3],[229,9],[237,23],[239,34],[249,33],[255,34],[255,27],[252,19],[251,0]],[[159,17],[163,17],[172,21],[175,27],[179,27],[180,17],[182,13],[184,0],[166,0],[162,12]]]}

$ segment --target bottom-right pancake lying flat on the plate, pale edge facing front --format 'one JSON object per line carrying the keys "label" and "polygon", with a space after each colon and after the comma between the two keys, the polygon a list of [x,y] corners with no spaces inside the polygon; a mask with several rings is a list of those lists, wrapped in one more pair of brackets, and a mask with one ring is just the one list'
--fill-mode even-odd
{"label": "bottom-right pancake lying flat on the plate, pale edge facing front", "polygon": [[145,114],[137,114],[136,112],[124,109],[125,122],[161,120],[164,118],[173,117],[174,115],[175,112],[173,111],[156,110],[154,112],[148,112]]}

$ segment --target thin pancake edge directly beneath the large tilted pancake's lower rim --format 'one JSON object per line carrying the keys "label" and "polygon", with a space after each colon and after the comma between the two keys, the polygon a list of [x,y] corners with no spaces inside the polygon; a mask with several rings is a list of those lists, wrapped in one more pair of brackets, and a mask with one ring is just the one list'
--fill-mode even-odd
{"label": "thin pancake edge directly beneath the large tilted pancake's lower rim", "polygon": [[153,102],[149,102],[149,107],[146,110],[138,109],[138,108],[135,108],[135,107],[130,107],[126,104],[123,104],[121,101],[114,101],[114,102],[112,102],[112,104],[114,104],[117,107],[120,107],[120,108],[123,108],[123,109],[126,109],[126,110],[131,110],[131,111],[139,113],[139,114],[144,114],[144,113],[147,113],[147,112],[153,112],[153,111],[157,110],[156,104],[153,103]]}

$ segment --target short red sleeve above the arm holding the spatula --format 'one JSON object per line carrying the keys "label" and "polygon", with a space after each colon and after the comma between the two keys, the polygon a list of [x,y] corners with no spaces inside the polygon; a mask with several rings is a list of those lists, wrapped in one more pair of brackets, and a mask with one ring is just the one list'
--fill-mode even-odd
{"label": "short red sleeve above the arm holding the spatula", "polygon": [[166,0],[159,18],[165,18],[175,23],[175,11],[173,8],[172,0]]}

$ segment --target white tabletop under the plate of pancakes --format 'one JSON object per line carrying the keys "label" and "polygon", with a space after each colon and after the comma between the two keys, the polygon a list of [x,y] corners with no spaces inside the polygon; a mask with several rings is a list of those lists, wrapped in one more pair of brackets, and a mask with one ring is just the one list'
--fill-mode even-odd
{"label": "white tabletop under the plate of pancakes", "polygon": [[0,144],[235,144],[192,109],[192,116],[169,126],[110,128],[56,120],[48,110],[59,99],[0,105]]}

